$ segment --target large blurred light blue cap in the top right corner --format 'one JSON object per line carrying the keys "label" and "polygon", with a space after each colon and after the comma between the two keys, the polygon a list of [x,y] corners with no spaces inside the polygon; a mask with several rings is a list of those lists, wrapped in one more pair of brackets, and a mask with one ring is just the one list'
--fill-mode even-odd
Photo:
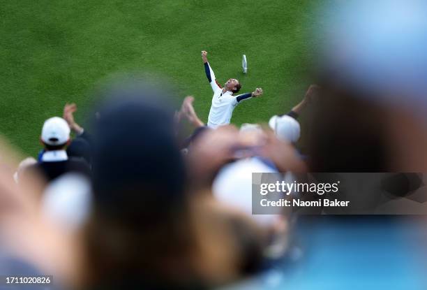
{"label": "large blurred light blue cap in the top right corner", "polygon": [[328,5],[327,13],[316,32],[324,39],[322,65],[336,85],[376,92],[359,96],[368,101],[426,107],[425,1],[352,0]]}

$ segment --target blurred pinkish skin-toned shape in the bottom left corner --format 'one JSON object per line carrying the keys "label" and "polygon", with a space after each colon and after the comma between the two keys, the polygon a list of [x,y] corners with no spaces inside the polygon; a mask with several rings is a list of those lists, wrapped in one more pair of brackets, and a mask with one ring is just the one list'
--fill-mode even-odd
{"label": "blurred pinkish skin-toned shape in the bottom left corner", "polygon": [[[45,217],[40,206],[45,180],[33,175],[34,171],[26,172],[26,166],[36,161],[24,159],[13,176],[16,161],[12,159],[17,155],[0,143],[0,275],[53,275],[54,285],[45,289],[79,284],[80,242],[75,232],[63,231],[63,227]],[[17,177],[18,184],[13,177]]]}

